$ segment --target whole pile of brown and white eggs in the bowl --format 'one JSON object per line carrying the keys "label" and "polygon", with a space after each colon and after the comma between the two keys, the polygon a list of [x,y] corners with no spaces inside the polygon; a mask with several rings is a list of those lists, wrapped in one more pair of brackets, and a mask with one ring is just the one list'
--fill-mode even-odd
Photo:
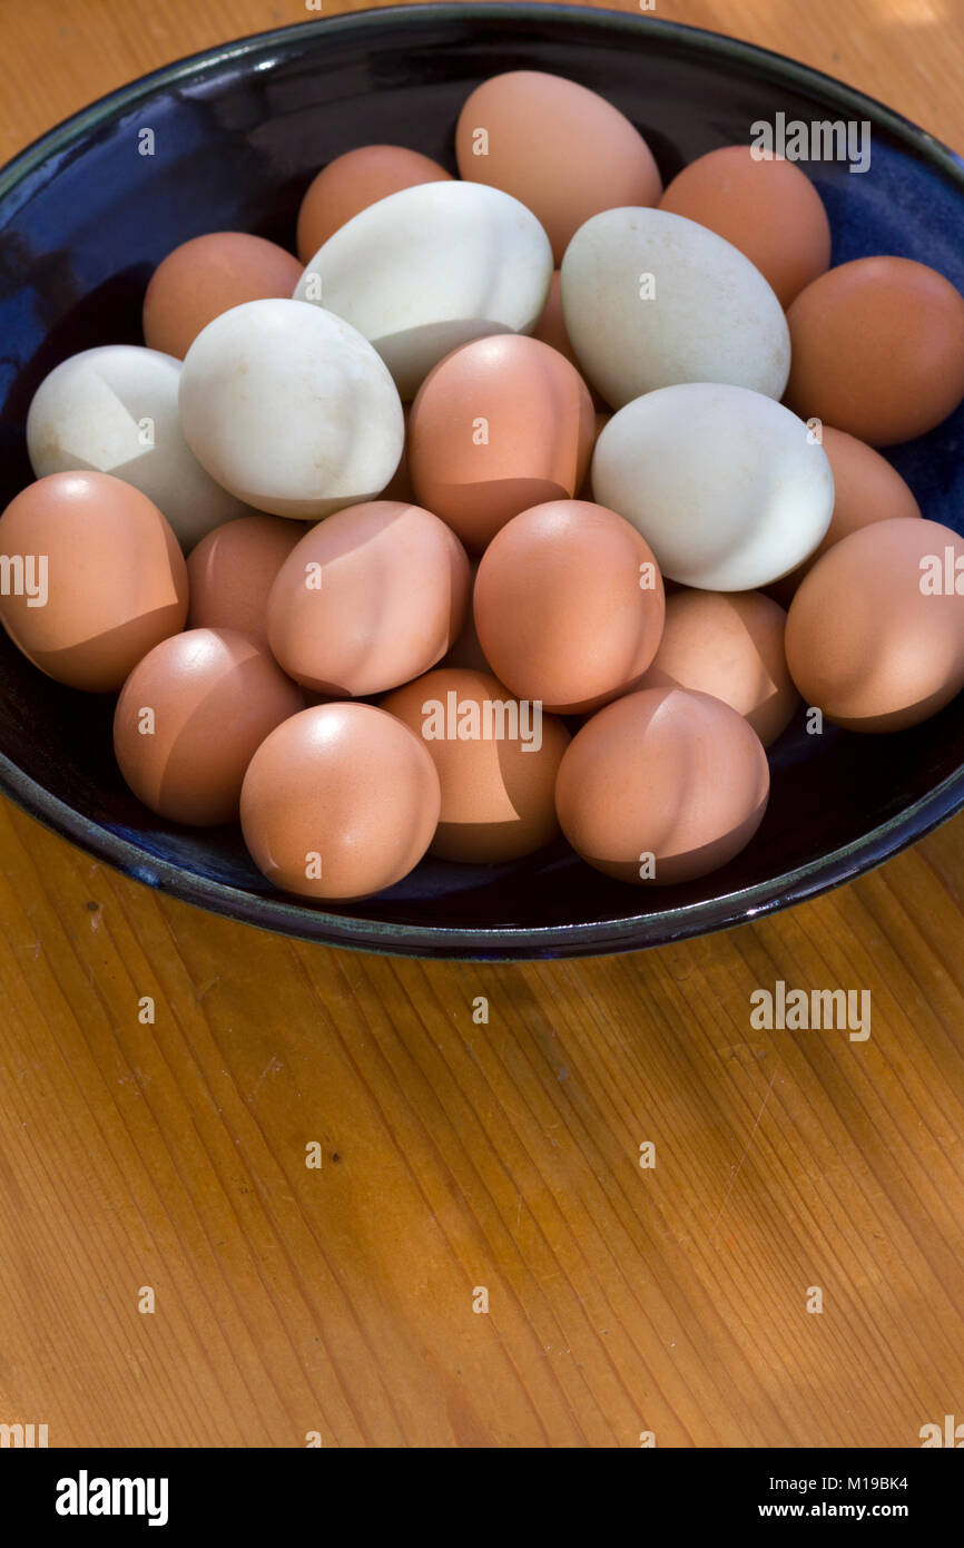
{"label": "whole pile of brown and white eggs in the bowl", "polygon": [[689,881],[752,841],[802,700],[901,731],[964,686],[964,543],[879,450],[964,399],[964,299],[831,268],[812,183],[749,146],[664,189],[555,76],[480,85],[455,152],[339,156],[297,257],[195,237],[144,347],[46,376],[0,619],[118,694],[141,802],[240,820],[286,892],[560,831]]}

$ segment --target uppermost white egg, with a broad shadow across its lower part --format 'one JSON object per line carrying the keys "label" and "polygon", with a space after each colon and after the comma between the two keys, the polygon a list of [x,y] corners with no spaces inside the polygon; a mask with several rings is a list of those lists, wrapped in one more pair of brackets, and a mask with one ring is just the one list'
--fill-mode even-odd
{"label": "uppermost white egg, with a broad shadow across its lower part", "polygon": [[483,183],[422,183],[336,231],[294,294],[364,333],[402,398],[413,398],[460,344],[531,333],[551,279],[549,238],[511,194]]}

